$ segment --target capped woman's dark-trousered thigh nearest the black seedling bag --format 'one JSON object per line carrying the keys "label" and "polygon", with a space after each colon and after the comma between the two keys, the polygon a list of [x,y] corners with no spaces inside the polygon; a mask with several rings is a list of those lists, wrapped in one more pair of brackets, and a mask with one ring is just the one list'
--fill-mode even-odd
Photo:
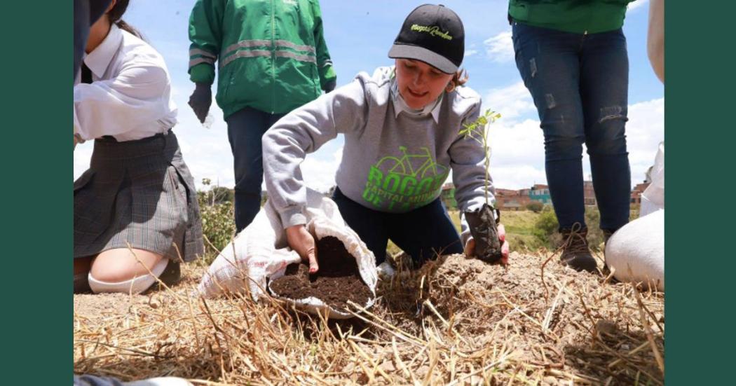
{"label": "capped woman's dark-trousered thigh nearest the black seedling bag", "polygon": [[442,200],[406,213],[387,213],[389,237],[416,266],[442,254],[461,254],[463,246]]}

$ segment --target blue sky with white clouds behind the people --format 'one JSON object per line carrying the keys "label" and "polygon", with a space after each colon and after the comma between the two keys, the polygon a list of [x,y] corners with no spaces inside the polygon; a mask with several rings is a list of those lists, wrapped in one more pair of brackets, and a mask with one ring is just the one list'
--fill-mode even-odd
{"label": "blue sky with white clouds behind the people", "polygon": [[[279,1],[279,0],[276,0]],[[421,1],[322,0],[325,37],[338,85],[360,71],[392,65],[386,57],[403,19]],[[463,67],[468,85],[484,97],[484,107],[503,115],[491,129],[491,174],[497,187],[518,189],[545,183],[544,147],[537,111],[513,60],[507,0],[443,2],[464,22],[466,56]],[[164,57],[171,74],[174,100],[179,107],[183,156],[197,185],[208,177],[219,185],[233,186],[233,167],[222,110],[213,103],[214,124],[205,128],[186,102],[194,89],[188,80],[188,18],[194,0],[131,0],[124,19],[141,30]],[[624,32],[629,47],[629,123],[626,126],[632,185],[644,179],[654,162],[657,143],[664,140],[664,87],[651,71],[646,55],[648,4],[637,0],[629,6]],[[213,90],[214,92],[214,90]],[[302,164],[305,181],[320,190],[333,184],[342,157],[342,138],[310,154]],[[75,178],[85,170],[91,141],[74,151]],[[587,157],[584,174],[590,174]]]}

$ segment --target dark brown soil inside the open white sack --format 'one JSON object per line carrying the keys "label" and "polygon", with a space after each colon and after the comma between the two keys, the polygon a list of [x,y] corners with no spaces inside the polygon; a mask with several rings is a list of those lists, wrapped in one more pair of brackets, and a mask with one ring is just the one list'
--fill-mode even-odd
{"label": "dark brown soil inside the open white sack", "polygon": [[313,296],[336,310],[347,309],[347,301],[364,305],[373,296],[361,279],[355,257],[336,237],[323,237],[316,243],[319,271],[309,274],[305,262],[291,264],[286,274],[274,280],[270,288],[277,296],[305,299]]}

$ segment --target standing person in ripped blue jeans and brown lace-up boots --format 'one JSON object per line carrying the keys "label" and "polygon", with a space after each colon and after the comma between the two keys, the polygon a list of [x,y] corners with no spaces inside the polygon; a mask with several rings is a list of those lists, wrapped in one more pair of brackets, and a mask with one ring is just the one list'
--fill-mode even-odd
{"label": "standing person in ripped blue jeans and brown lace-up boots", "polygon": [[583,143],[601,229],[629,222],[629,57],[621,27],[631,0],[510,0],[516,64],[545,136],[545,170],[565,239],[562,263],[598,272],[587,243]]}

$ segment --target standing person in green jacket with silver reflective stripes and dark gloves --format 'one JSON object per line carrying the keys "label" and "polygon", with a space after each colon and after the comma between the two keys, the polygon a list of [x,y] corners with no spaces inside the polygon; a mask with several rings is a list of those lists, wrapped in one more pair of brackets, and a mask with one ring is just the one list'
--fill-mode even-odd
{"label": "standing person in green jacket with silver reflective stripes and dark gloves", "polygon": [[235,168],[235,221],[261,207],[261,136],[283,115],[336,85],[319,0],[197,0],[189,18],[189,105],[204,123],[216,101]]}

